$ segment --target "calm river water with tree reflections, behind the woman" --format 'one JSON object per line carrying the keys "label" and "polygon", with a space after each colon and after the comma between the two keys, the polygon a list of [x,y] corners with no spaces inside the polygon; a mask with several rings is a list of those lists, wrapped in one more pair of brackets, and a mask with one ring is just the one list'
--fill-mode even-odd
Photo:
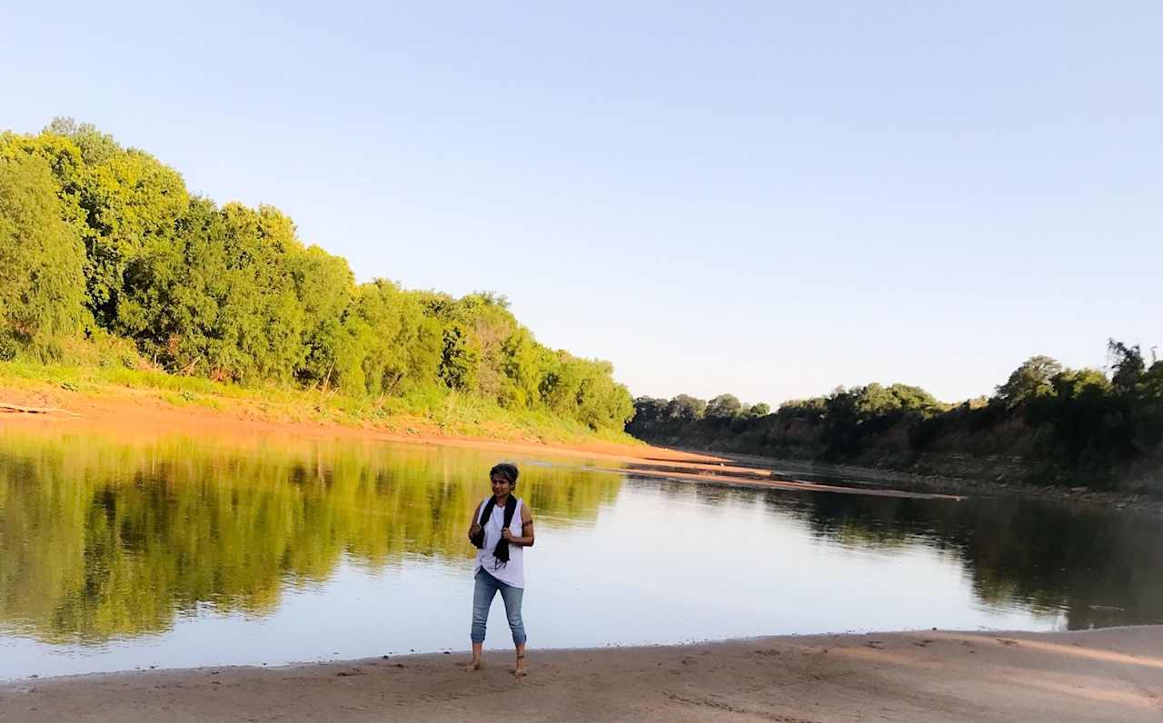
{"label": "calm river water with tree reflections, behind the woman", "polygon": [[[0,425],[0,678],[468,647],[494,452]],[[535,647],[1163,622],[1157,517],[518,457]],[[504,606],[490,647],[508,646]]]}

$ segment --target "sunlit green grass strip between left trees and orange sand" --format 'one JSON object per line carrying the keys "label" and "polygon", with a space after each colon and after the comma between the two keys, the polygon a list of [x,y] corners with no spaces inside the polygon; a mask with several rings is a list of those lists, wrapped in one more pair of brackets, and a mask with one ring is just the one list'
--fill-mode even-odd
{"label": "sunlit green grass strip between left trees and orange sand", "polygon": [[69,400],[136,399],[142,395],[176,408],[194,407],[269,422],[313,422],[374,428],[399,434],[442,434],[527,442],[616,442],[642,444],[621,430],[592,430],[547,411],[511,410],[450,389],[419,389],[399,398],[355,398],[336,389],[302,389],[269,384],[242,387],[199,377],[127,368],[121,364],[80,365],[0,362],[2,389],[42,393],[55,405]]}

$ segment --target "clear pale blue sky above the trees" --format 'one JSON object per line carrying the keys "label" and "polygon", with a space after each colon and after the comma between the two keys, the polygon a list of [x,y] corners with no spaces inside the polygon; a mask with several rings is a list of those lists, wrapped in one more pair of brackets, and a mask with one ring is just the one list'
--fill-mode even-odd
{"label": "clear pale blue sky above the trees", "polygon": [[495,289],[635,394],[1163,344],[1163,3],[9,6],[0,128],[90,121],[359,279]]}

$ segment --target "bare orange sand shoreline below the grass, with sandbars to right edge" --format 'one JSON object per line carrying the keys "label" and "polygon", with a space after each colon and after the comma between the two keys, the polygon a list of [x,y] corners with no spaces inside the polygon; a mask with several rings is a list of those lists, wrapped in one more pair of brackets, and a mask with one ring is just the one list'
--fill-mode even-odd
{"label": "bare orange sand shoreline below the grass, with sandbars to right edge", "polygon": [[[391,425],[344,424],[336,421],[292,420],[265,414],[252,406],[229,409],[208,409],[195,406],[174,406],[159,391],[133,387],[110,387],[102,395],[62,393],[60,389],[40,385],[33,388],[5,387],[0,384],[0,402],[20,407],[57,407],[59,411],[28,414],[0,411],[0,429],[7,425],[47,428],[69,425],[94,429],[101,434],[129,437],[156,436],[163,432],[186,434],[290,434],[299,437],[357,438],[369,442],[438,445],[556,454],[563,457],[602,459],[642,468],[625,472],[642,477],[665,478],[711,485],[771,487],[837,492],[827,482],[784,479],[787,473],[806,475],[855,477],[880,485],[912,486],[913,489],[887,487],[857,487],[865,494],[891,496],[939,497],[959,500],[966,496],[1016,495],[1070,504],[1113,507],[1125,511],[1163,515],[1163,499],[1132,493],[1091,489],[1084,487],[1042,487],[1016,482],[978,480],[957,475],[939,475],[883,467],[833,465],[812,460],[779,459],[755,454],[659,448],[644,442],[609,442],[598,438],[563,441],[523,436],[485,437],[447,434],[430,421],[401,415]],[[401,431],[401,428],[404,431]],[[514,431],[514,430],[508,430]],[[650,468],[656,467],[656,468]],[[773,478],[772,471],[780,470]],[[854,494],[849,489],[839,492]]]}

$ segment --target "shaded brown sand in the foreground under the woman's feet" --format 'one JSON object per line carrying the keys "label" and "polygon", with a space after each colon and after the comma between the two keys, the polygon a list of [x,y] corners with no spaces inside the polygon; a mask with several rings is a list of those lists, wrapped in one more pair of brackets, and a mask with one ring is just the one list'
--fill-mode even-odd
{"label": "shaded brown sand in the foreground under the woman's feet", "polygon": [[790,636],[0,685],[2,721],[1158,721],[1163,627]]}

